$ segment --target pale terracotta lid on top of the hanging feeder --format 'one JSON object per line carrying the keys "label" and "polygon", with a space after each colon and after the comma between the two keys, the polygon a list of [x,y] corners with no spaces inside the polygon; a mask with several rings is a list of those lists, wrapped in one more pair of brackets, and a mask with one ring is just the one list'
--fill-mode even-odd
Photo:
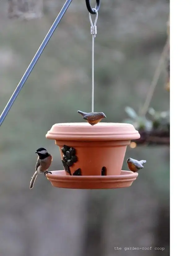
{"label": "pale terracotta lid on top of the hanging feeder", "polygon": [[132,124],[88,123],[54,124],[47,132],[46,138],[53,140],[133,140],[140,134]]}

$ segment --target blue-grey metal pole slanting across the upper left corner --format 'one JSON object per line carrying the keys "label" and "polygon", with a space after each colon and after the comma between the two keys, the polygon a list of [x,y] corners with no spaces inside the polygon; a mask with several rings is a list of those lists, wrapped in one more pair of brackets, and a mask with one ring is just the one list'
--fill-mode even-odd
{"label": "blue-grey metal pole slanting across the upper left corner", "polygon": [[43,50],[45,49],[47,43],[49,42],[49,39],[51,38],[52,34],[54,33],[55,29],[57,28],[59,22],[61,21],[63,15],[65,14],[65,12],[67,11],[70,3],[72,2],[72,0],[66,0],[65,4],[63,5],[63,8],[61,9],[61,11],[59,12],[57,18],[55,19],[53,25],[51,26],[49,32],[47,33],[45,39],[43,40],[43,42],[41,43],[41,46],[39,47],[38,51],[36,52],[33,60],[31,61],[31,63],[29,64],[27,70],[25,71],[25,74],[23,75],[23,77],[21,78],[19,84],[17,85],[15,91],[13,92],[13,95],[11,96],[10,100],[7,103],[7,106],[5,107],[5,109],[3,110],[1,116],[0,116],[0,126],[2,125],[2,122],[4,121],[4,119],[6,118],[9,110],[11,109],[14,101],[16,100],[17,96],[19,95],[21,89],[24,86],[24,83],[26,82],[26,80],[28,79],[28,76],[30,75],[31,71],[33,70],[35,64],[37,63],[39,57],[41,56],[41,53],[43,52]]}

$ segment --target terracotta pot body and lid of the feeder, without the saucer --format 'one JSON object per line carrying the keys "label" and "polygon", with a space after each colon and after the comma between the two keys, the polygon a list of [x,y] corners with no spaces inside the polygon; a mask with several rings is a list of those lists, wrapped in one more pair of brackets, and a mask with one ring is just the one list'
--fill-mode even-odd
{"label": "terracotta pot body and lid of the feeder, without the saucer", "polygon": [[54,124],[46,138],[55,140],[62,159],[63,145],[75,148],[78,161],[70,167],[71,174],[81,168],[82,176],[99,176],[102,167],[106,175],[120,175],[127,145],[140,135],[132,124],[64,123]]}

